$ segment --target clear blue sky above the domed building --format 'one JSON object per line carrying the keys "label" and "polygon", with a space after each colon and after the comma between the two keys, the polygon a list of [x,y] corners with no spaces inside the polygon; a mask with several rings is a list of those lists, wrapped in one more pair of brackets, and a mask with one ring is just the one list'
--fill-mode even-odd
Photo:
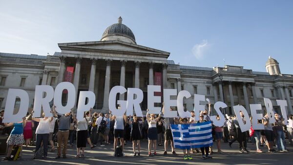
{"label": "clear blue sky above the domed building", "polygon": [[98,41],[121,16],[139,45],[188,66],[265,72],[271,55],[293,74],[292,0],[1,0],[0,52],[50,55]]}

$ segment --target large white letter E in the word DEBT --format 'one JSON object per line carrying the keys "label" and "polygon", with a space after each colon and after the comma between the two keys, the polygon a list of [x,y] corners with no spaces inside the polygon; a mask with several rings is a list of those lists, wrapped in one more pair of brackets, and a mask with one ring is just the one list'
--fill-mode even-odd
{"label": "large white letter E in the word DEBT", "polygon": [[265,126],[262,123],[257,123],[257,120],[261,120],[263,118],[262,113],[257,113],[256,110],[262,110],[260,104],[251,104],[251,116],[252,116],[252,129],[261,130],[265,129]]}

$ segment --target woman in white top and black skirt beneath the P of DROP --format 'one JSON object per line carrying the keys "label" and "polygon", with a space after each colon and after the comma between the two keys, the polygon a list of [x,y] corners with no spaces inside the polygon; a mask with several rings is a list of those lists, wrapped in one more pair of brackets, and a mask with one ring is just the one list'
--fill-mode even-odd
{"label": "woman in white top and black skirt beneath the P of DROP", "polygon": [[[89,116],[92,109],[89,110]],[[86,113],[84,112],[84,118],[81,121],[77,121],[75,127],[76,129],[76,149],[77,155],[76,158],[83,158],[84,157],[84,148],[86,147],[87,141],[87,125],[88,119],[86,119]],[[82,150],[82,154],[80,151]]]}

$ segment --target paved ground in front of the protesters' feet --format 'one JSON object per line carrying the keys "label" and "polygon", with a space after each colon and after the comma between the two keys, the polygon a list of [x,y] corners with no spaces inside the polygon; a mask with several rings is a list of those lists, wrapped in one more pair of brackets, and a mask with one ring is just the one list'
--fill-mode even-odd
{"label": "paved ground in front of the protesters' feet", "polygon": [[[86,148],[85,158],[74,158],[76,155],[76,148],[68,147],[67,159],[60,158],[59,160],[54,159],[56,157],[56,151],[49,152],[46,160],[32,160],[33,149],[35,147],[28,147],[23,149],[22,160],[18,161],[1,161],[0,165],[53,165],[53,164],[67,164],[67,165],[293,165],[293,147],[287,146],[290,152],[277,152],[277,153],[257,153],[255,151],[255,145],[248,144],[248,148],[251,149],[250,153],[239,153],[238,143],[235,142],[232,148],[227,143],[222,143],[222,150],[224,153],[218,154],[214,152],[212,159],[202,160],[201,153],[191,154],[193,160],[185,161],[183,159],[183,152],[176,150],[178,155],[174,156],[171,154],[163,155],[164,147],[157,147],[157,156],[147,156],[147,143],[142,142],[141,157],[133,157],[132,144],[130,142],[126,145],[126,157],[112,157],[113,154],[112,145],[105,147],[95,147],[93,149]],[[214,148],[216,148],[214,146]],[[266,147],[261,147],[263,151],[266,151]],[[216,149],[214,149],[216,151]],[[169,153],[170,153],[169,149]],[[5,155],[0,155],[3,159]]]}

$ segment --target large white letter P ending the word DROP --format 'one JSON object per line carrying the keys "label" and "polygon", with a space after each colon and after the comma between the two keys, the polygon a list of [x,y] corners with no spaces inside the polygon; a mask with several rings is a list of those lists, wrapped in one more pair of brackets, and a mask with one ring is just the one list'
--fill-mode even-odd
{"label": "large white letter P ending the word DROP", "polygon": [[[85,104],[85,100],[88,98],[87,104]],[[84,118],[84,111],[90,110],[93,108],[96,102],[96,96],[94,92],[91,91],[81,91],[78,99],[78,107],[76,118],[77,121],[81,121]]]}

